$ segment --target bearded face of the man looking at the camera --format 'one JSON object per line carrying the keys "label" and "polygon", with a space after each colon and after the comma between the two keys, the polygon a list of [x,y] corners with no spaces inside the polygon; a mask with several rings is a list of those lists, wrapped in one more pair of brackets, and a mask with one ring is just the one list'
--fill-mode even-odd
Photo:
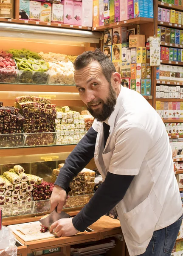
{"label": "bearded face of the man looking at the camera", "polygon": [[75,70],[74,80],[91,115],[100,122],[105,121],[114,110],[116,93],[102,73],[100,64],[93,61],[87,67]]}

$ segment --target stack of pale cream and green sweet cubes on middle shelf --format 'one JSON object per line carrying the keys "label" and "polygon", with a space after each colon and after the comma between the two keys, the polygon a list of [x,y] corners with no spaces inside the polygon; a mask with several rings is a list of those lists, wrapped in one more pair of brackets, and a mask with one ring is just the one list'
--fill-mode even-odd
{"label": "stack of pale cream and green sweet cubes on middle shelf", "polygon": [[56,109],[55,128],[58,134],[56,144],[76,144],[93,124],[91,115],[80,115],[70,111],[68,106]]}

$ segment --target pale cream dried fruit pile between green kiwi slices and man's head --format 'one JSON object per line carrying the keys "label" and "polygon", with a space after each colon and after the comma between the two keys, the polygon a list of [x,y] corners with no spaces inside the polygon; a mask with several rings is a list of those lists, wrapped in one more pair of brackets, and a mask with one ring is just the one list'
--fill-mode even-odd
{"label": "pale cream dried fruit pile between green kiwi slices and man's head", "polygon": [[49,84],[75,84],[73,62],[77,56],[39,52],[39,55],[49,63]]}

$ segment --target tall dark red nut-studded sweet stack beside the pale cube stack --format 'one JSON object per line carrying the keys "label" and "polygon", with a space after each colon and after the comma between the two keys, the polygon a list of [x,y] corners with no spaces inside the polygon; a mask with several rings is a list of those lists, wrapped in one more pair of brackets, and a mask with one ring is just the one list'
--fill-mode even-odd
{"label": "tall dark red nut-studded sweet stack beside the pale cube stack", "polygon": [[48,133],[55,131],[56,105],[51,104],[50,99],[36,96],[20,96],[15,100],[15,107],[25,117],[23,131],[31,133],[27,135],[25,145],[53,144],[54,135]]}

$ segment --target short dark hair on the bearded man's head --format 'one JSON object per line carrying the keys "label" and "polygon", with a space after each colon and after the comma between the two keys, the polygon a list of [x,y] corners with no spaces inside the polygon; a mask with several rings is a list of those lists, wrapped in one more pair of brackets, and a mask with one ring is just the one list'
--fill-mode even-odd
{"label": "short dark hair on the bearded man's head", "polygon": [[[87,67],[91,62],[97,61],[102,69],[106,80],[110,83],[111,76],[116,72],[113,62],[100,49],[95,51],[83,52],[76,58],[74,62],[74,69],[80,70]],[[111,84],[111,83],[110,83]]]}

